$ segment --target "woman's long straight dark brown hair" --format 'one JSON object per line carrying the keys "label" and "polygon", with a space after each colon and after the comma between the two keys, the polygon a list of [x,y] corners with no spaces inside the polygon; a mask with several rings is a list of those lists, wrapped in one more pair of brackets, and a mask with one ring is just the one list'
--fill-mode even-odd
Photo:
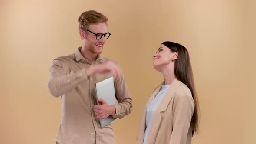
{"label": "woman's long straight dark brown hair", "polygon": [[188,51],[184,46],[178,43],[164,42],[162,44],[171,49],[171,52],[178,52],[178,58],[174,63],[174,74],[179,81],[187,85],[192,93],[192,97],[195,103],[194,113],[190,122],[190,125],[193,128],[193,136],[194,132],[199,132],[199,105]]}

